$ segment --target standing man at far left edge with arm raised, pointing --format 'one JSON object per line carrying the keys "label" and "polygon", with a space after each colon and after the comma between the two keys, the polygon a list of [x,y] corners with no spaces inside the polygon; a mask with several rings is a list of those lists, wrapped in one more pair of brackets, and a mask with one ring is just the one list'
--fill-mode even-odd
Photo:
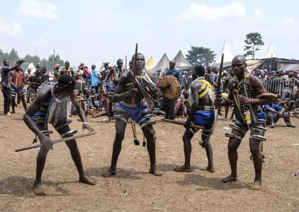
{"label": "standing man at far left edge with arm raised, pointing", "polygon": [[13,70],[16,70],[16,68],[22,64],[22,62],[25,62],[25,60],[20,60],[18,63],[15,64],[12,68],[9,68],[9,61],[3,60],[3,67],[1,69],[1,82],[0,82],[0,89],[3,94],[4,98],[4,115],[12,116],[9,112],[9,107],[11,104],[11,93],[10,93],[10,78],[11,78],[11,72]]}

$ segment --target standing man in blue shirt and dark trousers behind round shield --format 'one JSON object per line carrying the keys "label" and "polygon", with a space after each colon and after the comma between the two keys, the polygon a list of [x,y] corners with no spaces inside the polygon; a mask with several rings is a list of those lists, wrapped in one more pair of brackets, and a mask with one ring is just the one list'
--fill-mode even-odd
{"label": "standing man in blue shirt and dark trousers behind round shield", "polygon": [[[165,76],[174,76],[179,81],[179,84],[182,83],[181,72],[175,68],[175,61],[172,60],[169,62],[169,70],[166,72]],[[163,96],[163,104],[165,110],[165,118],[175,120],[174,108],[177,98],[167,99]]]}

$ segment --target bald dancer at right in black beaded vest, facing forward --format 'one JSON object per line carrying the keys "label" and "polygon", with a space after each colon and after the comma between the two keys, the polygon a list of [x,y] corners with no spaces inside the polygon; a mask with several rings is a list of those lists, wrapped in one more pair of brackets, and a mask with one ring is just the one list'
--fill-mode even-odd
{"label": "bald dancer at right in black beaded vest, facing forward", "polygon": [[[249,147],[253,156],[253,163],[255,167],[255,180],[250,186],[251,190],[259,190],[262,187],[262,155],[260,152],[261,140],[263,139],[263,131],[259,131],[257,126],[265,127],[265,110],[263,105],[270,104],[270,98],[260,96],[262,94],[267,96],[267,91],[263,86],[262,81],[249,74],[245,74],[247,67],[246,59],[242,55],[234,57],[232,61],[232,70],[235,74],[235,81],[229,83],[229,95],[221,101],[216,99],[215,106],[229,106],[234,104],[234,111],[236,115],[235,125],[232,133],[226,133],[230,137],[228,143],[228,157],[231,165],[231,174],[223,178],[222,181],[227,183],[238,180],[237,176],[237,160],[238,147],[248,129],[251,128]],[[236,126],[236,127],[235,127]],[[239,128],[238,128],[239,127]],[[259,136],[257,136],[259,135]]]}

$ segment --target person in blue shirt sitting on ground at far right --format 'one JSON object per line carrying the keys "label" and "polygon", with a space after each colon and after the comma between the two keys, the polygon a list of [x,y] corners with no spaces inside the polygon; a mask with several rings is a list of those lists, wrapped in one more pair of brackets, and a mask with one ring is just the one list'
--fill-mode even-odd
{"label": "person in blue shirt sitting on ground at far right", "polygon": [[290,116],[285,112],[285,108],[275,105],[268,104],[264,106],[266,110],[266,124],[271,124],[271,128],[275,127],[275,123],[281,118],[284,117],[284,120],[289,127],[296,127],[291,123]]}

